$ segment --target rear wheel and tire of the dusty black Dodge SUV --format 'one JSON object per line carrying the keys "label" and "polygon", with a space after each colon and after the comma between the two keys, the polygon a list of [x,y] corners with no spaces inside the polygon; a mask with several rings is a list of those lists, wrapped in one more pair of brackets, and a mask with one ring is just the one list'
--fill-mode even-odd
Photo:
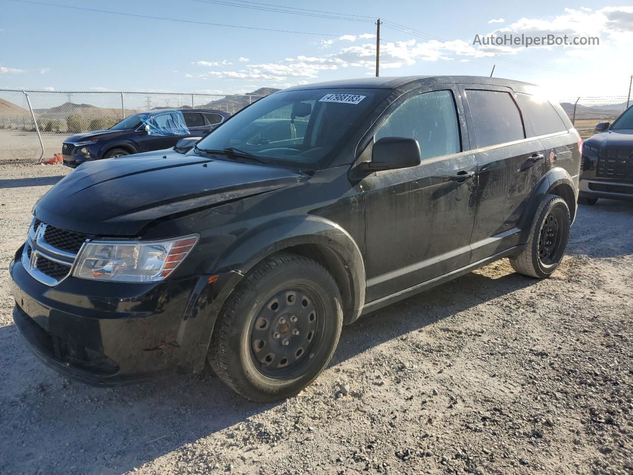
{"label": "rear wheel and tire of the dusty black Dodge SUV", "polygon": [[565,255],[570,226],[567,202],[548,194],[536,210],[525,248],[510,258],[513,269],[539,279],[551,276]]}

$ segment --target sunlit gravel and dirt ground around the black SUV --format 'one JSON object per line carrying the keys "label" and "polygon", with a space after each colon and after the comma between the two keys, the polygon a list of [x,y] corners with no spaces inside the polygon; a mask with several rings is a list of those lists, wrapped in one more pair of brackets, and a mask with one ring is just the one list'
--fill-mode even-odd
{"label": "sunlit gravel and dirt ground around the black SUV", "polygon": [[315,384],[259,405],[208,372],[104,390],[35,360],[6,270],[68,170],[16,165],[0,167],[2,474],[633,474],[632,203],[582,206],[553,278],[501,260],[380,310]]}

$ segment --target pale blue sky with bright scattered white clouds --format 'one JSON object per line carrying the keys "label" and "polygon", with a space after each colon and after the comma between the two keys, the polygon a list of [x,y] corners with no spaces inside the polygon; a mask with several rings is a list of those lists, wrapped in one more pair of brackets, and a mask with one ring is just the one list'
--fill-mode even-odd
{"label": "pale blue sky with bright scattered white clouds", "polygon": [[[633,5],[611,0],[0,0],[0,12],[0,88],[238,94],[367,77],[375,18],[385,22],[381,76],[489,76],[496,65],[495,77],[567,99],[626,96],[633,74]],[[592,36],[599,45],[473,44],[491,34]]]}

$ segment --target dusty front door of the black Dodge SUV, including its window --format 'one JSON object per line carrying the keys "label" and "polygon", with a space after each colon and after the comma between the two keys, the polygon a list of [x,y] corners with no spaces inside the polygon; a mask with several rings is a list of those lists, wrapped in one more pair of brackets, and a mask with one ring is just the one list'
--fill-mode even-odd
{"label": "dusty front door of the black Dodge SUV, including its window", "polygon": [[468,265],[477,163],[462,151],[468,142],[456,98],[451,85],[409,92],[375,128],[375,141],[417,139],[422,163],[361,181],[368,302]]}

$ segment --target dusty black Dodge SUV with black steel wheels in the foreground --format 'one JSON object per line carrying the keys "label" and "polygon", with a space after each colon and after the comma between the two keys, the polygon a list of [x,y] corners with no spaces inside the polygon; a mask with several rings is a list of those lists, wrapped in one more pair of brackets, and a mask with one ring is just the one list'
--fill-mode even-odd
{"label": "dusty black Dodge SUV with black steel wheels in the foreground", "polygon": [[16,326],[87,383],[208,360],[248,398],[294,395],[360,315],[503,257],[555,271],[580,137],[536,92],[487,77],[304,85],[185,154],[80,167],[35,205],[10,265]]}

